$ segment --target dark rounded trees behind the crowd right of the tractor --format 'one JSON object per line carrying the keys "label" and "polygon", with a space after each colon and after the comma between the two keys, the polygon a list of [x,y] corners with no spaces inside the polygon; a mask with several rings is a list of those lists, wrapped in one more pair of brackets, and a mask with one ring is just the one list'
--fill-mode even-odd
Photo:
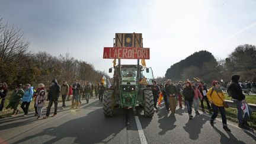
{"label": "dark rounded trees behind the crowd right of the tractor", "polygon": [[256,81],[256,49],[254,45],[238,46],[226,59],[218,61],[212,53],[206,50],[193,53],[168,68],[165,79],[184,81],[198,77],[207,83],[213,80],[220,81],[220,79],[228,82],[231,81],[231,76],[234,73],[241,75],[241,81]]}

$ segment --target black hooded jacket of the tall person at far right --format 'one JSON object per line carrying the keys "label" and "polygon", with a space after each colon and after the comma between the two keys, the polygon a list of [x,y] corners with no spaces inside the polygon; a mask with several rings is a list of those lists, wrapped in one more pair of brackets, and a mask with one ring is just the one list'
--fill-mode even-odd
{"label": "black hooded jacket of the tall person at far right", "polygon": [[231,94],[231,97],[235,100],[245,100],[245,95],[242,93],[242,88],[238,85],[239,75],[232,76],[232,82],[228,87],[228,94]]}

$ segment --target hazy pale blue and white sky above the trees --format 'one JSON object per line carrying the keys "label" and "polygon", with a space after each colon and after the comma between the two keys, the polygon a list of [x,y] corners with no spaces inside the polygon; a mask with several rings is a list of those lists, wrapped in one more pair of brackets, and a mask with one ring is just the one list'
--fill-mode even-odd
{"label": "hazy pale blue and white sky above the trees", "polygon": [[256,45],[255,0],[0,0],[0,17],[22,29],[33,52],[68,52],[105,72],[113,60],[103,47],[115,33],[142,33],[155,77],[199,50],[224,59],[239,44]]}

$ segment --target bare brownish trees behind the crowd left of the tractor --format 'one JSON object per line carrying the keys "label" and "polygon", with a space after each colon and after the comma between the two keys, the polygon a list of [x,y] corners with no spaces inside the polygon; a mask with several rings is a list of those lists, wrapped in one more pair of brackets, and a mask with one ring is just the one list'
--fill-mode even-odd
{"label": "bare brownish trees behind the crowd left of the tractor", "polygon": [[12,87],[26,83],[49,84],[54,78],[60,82],[73,82],[74,79],[100,82],[105,75],[69,53],[64,56],[52,56],[47,52],[31,53],[29,45],[18,27],[0,19],[0,82],[7,82]]}

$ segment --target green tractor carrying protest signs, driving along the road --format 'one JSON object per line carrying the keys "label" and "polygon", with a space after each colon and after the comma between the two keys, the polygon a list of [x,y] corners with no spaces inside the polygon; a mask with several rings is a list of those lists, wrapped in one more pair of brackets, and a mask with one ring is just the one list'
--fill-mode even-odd
{"label": "green tractor carrying protest signs, driving along the road", "polygon": [[[115,45],[114,45],[115,46]],[[151,68],[143,68],[137,65],[119,64],[110,68],[109,72],[113,75],[113,82],[110,88],[106,88],[103,95],[103,112],[105,117],[111,117],[115,108],[143,107],[144,116],[152,117],[155,113],[153,107],[152,81],[153,72]]]}

